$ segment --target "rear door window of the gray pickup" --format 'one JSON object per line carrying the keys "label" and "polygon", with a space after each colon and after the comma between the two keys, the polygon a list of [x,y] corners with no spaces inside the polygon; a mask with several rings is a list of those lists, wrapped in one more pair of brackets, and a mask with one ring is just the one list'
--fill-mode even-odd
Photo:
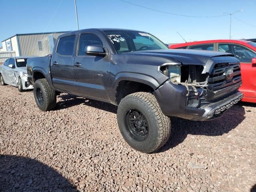
{"label": "rear door window of the gray pickup", "polygon": [[57,53],[60,55],[73,55],[75,38],[75,35],[60,38]]}

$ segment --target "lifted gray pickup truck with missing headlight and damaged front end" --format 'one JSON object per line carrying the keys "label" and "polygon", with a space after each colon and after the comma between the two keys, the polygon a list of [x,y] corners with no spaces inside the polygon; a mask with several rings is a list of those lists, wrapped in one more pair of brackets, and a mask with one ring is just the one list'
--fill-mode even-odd
{"label": "lifted gray pickup truck with missing headlight and damaged front end", "polygon": [[240,63],[232,54],[169,50],[136,30],[62,34],[53,54],[28,59],[27,70],[41,110],[54,109],[60,92],[114,104],[122,136],[145,153],[166,143],[170,116],[218,118],[243,97]]}

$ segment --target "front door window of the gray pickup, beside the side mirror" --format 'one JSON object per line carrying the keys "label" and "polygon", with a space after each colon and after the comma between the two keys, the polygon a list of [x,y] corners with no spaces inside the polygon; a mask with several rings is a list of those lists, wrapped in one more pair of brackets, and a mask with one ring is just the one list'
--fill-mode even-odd
{"label": "front door window of the gray pickup, beside the side mirror", "polygon": [[78,47],[78,55],[86,55],[84,48],[89,45],[103,46],[102,40],[95,34],[81,34]]}

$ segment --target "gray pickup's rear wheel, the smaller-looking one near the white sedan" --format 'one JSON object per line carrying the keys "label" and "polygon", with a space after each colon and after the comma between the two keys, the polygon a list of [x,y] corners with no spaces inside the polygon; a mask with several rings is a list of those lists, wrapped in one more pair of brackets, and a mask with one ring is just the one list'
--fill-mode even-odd
{"label": "gray pickup's rear wheel, the smaller-looking one near the white sedan", "polygon": [[50,111],[56,106],[56,92],[50,88],[46,79],[38,79],[34,84],[34,97],[42,111]]}

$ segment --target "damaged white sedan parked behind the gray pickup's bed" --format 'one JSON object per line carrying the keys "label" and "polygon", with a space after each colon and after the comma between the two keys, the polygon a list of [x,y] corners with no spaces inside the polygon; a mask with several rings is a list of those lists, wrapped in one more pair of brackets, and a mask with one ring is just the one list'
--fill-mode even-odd
{"label": "damaged white sedan parked behind the gray pickup's bed", "polygon": [[0,84],[2,86],[9,84],[18,87],[19,92],[27,89],[33,89],[33,86],[28,83],[28,58],[32,57],[11,57],[0,65]]}

